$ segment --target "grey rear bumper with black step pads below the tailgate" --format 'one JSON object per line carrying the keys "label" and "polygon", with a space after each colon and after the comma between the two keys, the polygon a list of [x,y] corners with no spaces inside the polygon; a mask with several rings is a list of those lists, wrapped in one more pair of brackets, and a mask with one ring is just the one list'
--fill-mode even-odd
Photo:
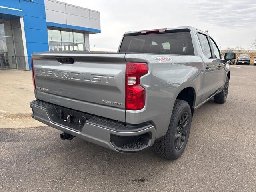
{"label": "grey rear bumper with black step pads below the tailgate", "polygon": [[[139,125],[124,125],[104,118],[84,113],[86,117],[83,125],[69,124],[58,117],[58,106],[34,100],[30,103],[33,110],[32,117],[53,128],[82,138],[88,142],[118,152],[138,152],[154,143],[156,129],[150,123]],[[77,112],[66,109],[72,114]],[[79,126],[76,128],[76,126]]]}

